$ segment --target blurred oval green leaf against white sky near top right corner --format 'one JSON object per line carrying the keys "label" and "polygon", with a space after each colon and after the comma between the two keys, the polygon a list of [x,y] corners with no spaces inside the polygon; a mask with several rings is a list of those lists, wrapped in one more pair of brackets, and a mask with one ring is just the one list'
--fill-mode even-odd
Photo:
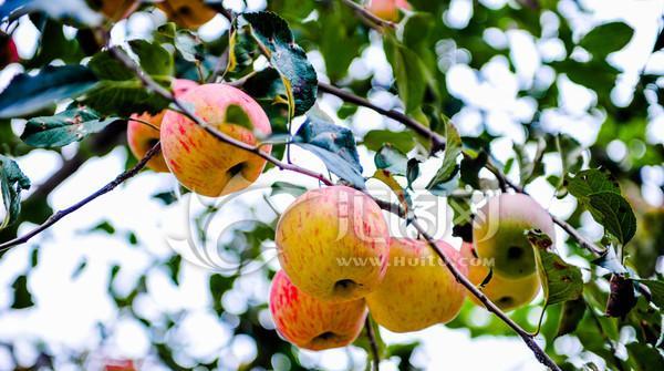
{"label": "blurred oval green leaf against white sky near top right corner", "polygon": [[595,27],[579,45],[598,59],[603,59],[611,52],[623,49],[632,39],[634,30],[623,22],[610,22]]}

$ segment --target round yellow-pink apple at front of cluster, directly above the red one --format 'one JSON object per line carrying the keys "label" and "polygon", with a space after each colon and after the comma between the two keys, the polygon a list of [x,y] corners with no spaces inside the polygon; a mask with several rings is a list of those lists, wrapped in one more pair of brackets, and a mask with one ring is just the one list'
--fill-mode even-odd
{"label": "round yellow-pink apple at front of cluster, directly above the red one", "polygon": [[302,291],[321,300],[364,297],[387,268],[390,231],[382,210],[346,186],[298,197],[281,215],[274,240],[281,267]]}

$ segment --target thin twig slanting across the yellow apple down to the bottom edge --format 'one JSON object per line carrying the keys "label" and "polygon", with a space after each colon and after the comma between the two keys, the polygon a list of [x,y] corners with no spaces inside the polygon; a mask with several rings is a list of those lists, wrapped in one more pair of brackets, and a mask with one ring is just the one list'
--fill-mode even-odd
{"label": "thin twig slanting across the yellow apple down to the bottom edge", "polygon": [[475,285],[473,285],[473,282],[470,282],[468,280],[468,278],[466,278],[466,276],[464,276],[452,264],[452,261],[449,261],[447,256],[445,256],[443,250],[440,250],[440,248],[436,245],[434,238],[419,225],[419,223],[417,221],[416,218],[413,218],[412,225],[413,225],[413,227],[415,227],[415,229],[417,229],[417,233],[419,233],[419,235],[422,237],[424,237],[424,239],[428,243],[428,245],[434,249],[434,251],[440,258],[440,260],[443,260],[443,262],[445,264],[447,269],[452,272],[454,278],[456,278],[456,280],[459,284],[461,284],[468,291],[470,291],[470,293],[473,293],[477,299],[479,299],[479,301],[481,301],[481,303],[487,308],[488,311],[496,315],[496,317],[498,317],[507,326],[509,326],[523,340],[523,342],[526,342],[526,346],[528,346],[528,348],[530,348],[530,350],[532,350],[532,352],[535,353],[535,357],[537,358],[537,360],[540,363],[544,364],[546,367],[548,367],[551,370],[561,371],[560,368],[558,367],[558,364],[556,364],[556,362],[553,362],[553,360],[551,358],[549,358],[549,355],[547,355],[547,353],[537,344],[537,342],[535,341],[535,339],[532,338],[532,336],[530,333],[528,333],[519,324],[517,324],[515,321],[512,321],[502,310],[500,310],[500,308],[498,308],[491,300],[489,300],[489,298],[487,298],[478,288],[476,288]]}

